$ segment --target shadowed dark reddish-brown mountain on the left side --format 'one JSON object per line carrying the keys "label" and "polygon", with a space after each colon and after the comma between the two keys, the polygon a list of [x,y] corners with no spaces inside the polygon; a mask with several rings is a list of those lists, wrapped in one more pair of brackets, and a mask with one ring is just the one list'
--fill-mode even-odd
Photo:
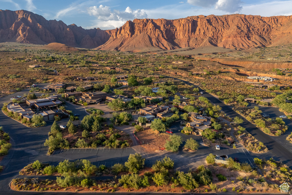
{"label": "shadowed dark reddish-brown mountain on the left side", "polygon": [[0,42],[30,44],[62,43],[95,48],[107,42],[109,35],[100,29],[85,30],[62,21],[46,20],[29,11],[0,10]]}

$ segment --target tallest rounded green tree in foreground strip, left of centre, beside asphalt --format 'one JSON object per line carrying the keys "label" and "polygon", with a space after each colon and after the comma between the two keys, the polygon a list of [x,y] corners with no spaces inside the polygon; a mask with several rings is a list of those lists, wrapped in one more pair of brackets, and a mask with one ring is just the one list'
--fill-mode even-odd
{"label": "tallest rounded green tree in foreground strip, left of centre, beside asphalt", "polygon": [[142,158],[141,154],[135,153],[130,154],[128,161],[125,162],[126,168],[128,168],[129,172],[137,173],[144,167],[145,158]]}

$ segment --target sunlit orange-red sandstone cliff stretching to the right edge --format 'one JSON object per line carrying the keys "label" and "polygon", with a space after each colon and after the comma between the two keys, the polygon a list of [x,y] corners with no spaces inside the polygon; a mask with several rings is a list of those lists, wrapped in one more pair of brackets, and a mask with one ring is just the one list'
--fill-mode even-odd
{"label": "sunlit orange-red sandstone cliff stretching to the right edge", "polygon": [[134,51],[220,46],[247,49],[292,42],[291,16],[192,16],[177,20],[135,19],[108,30],[109,40],[97,49]]}

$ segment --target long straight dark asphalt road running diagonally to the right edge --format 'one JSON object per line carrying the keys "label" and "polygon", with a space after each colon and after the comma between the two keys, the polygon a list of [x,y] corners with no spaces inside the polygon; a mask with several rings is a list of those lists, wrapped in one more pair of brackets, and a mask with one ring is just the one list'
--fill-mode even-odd
{"label": "long straight dark asphalt road running diagonally to the right edge", "polygon": [[[171,78],[174,78],[174,77],[171,77]],[[193,83],[185,81],[185,80],[181,80],[178,78],[174,78],[174,79],[182,81],[185,84],[188,84],[190,86],[194,85]],[[194,85],[194,87],[199,87],[199,86]],[[210,100],[212,103],[222,107],[222,111],[225,112],[229,117],[234,118],[238,116],[239,118],[242,118],[238,113],[232,110],[231,106],[224,104],[219,99],[205,92],[203,89],[199,88],[199,92],[203,92],[204,94],[202,96],[208,98],[208,100]],[[272,153],[271,157],[273,157],[275,160],[285,163],[290,168],[292,168],[292,149],[290,149],[291,147],[286,146],[287,142],[285,141],[286,138],[284,136],[277,138],[274,136],[267,135],[264,132],[262,132],[260,129],[258,129],[255,125],[248,122],[246,119],[244,118],[242,119],[244,120],[244,123],[241,124],[241,126],[246,128],[246,130],[250,134],[252,134],[259,141],[263,142],[265,146],[267,146],[267,148]],[[291,128],[286,132],[286,135],[290,134],[290,132],[291,132]],[[266,158],[269,158],[269,157],[266,157]]]}

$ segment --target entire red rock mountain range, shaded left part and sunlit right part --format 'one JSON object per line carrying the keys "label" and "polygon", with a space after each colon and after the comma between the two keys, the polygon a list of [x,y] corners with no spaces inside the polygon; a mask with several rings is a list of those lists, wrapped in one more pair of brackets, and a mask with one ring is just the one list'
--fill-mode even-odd
{"label": "entire red rock mountain range, shaded left part and sunlit right part", "polygon": [[48,44],[119,51],[219,46],[247,49],[292,42],[292,16],[191,16],[135,19],[113,30],[85,30],[29,11],[0,10],[0,42]]}

